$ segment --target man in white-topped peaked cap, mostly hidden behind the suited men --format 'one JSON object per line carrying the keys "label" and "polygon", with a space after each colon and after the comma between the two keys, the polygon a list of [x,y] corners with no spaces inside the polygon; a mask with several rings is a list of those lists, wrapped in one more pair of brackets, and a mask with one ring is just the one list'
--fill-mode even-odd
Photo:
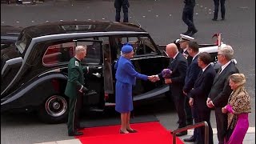
{"label": "man in white-topped peaked cap, mostly hidden behind the suited men", "polygon": [[[193,57],[190,56],[190,54],[187,51],[187,47],[189,45],[190,41],[193,41],[194,38],[184,35],[184,34],[180,34],[181,38],[179,40],[179,44],[181,47],[181,53],[182,55],[186,58],[187,62],[188,62],[188,66],[190,66],[190,63],[192,62]],[[186,97],[186,96],[185,96]],[[191,108],[189,105],[189,98],[186,97],[186,102],[185,102],[185,110],[186,110],[186,122],[188,125],[192,125],[193,124],[193,118],[192,118],[192,112],[191,112]]]}

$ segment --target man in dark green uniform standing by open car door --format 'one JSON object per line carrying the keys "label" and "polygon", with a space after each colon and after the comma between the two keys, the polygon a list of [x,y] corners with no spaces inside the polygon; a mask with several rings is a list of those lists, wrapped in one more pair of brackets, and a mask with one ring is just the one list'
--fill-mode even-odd
{"label": "man in dark green uniform standing by open car door", "polygon": [[78,117],[79,110],[82,107],[82,96],[88,92],[88,89],[84,86],[83,73],[88,74],[90,71],[89,66],[81,66],[81,60],[86,57],[86,48],[86,46],[76,46],[75,56],[70,59],[68,65],[68,82],[65,94],[70,98],[70,111],[67,122],[69,136],[82,135],[82,132],[78,132],[79,129],[82,129],[79,126]]}

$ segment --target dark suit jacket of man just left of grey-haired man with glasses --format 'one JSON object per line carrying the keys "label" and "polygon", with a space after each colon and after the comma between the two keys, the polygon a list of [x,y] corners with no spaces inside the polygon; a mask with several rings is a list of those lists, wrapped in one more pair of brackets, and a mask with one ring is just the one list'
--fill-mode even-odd
{"label": "dark suit jacket of man just left of grey-haired man with glasses", "polygon": [[[202,73],[202,70],[200,72]],[[210,110],[206,106],[206,100],[213,85],[215,74],[214,67],[208,66],[194,82],[194,89],[190,90],[189,97],[194,98],[194,106],[197,106],[198,110]]]}

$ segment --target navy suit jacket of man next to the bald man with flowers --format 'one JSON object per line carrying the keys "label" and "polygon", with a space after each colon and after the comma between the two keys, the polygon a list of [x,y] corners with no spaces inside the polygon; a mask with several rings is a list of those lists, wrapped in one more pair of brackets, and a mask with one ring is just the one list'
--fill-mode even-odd
{"label": "navy suit jacket of man next to the bald man with flowers", "polygon": [[198,66],[198,55],[190,63],[186,70],[185,85],[183,90],[186,93],[189,93],[190,90],[194,87],[194,82],[198,78],[198,74],[201,72],[201,68]]}

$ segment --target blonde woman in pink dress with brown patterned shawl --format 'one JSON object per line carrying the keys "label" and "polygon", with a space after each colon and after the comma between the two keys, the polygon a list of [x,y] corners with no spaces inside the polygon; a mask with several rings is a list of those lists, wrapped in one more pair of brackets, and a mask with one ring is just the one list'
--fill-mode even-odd
{"label": "blonde woman in pink dress with brown patterned shawl", "polygon": [[230,88],[233,92],[222,113],[228,115],[228,128],[226,144],[242,144],[249,127],[248,113],[251,112],[250,96],[245,88],[246,77],[244,74],[230,75]]}

